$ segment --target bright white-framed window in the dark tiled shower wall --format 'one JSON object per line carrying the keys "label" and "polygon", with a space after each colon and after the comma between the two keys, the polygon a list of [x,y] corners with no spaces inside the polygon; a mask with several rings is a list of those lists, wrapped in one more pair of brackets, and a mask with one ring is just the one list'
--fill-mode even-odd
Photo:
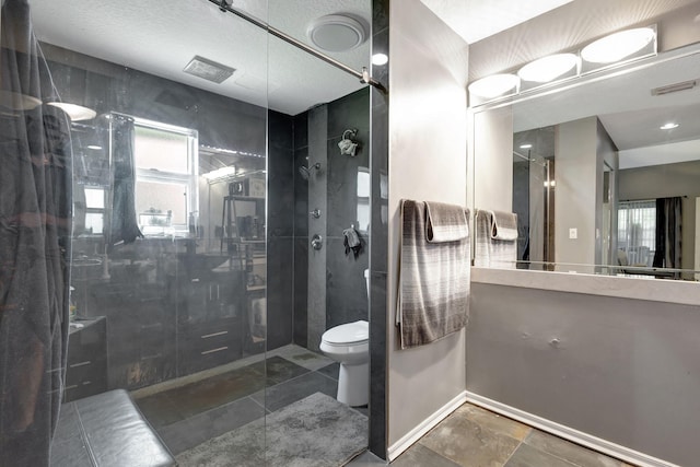
{"label": "bright white-framed window in the dark tiled shower wall", "polygon": [[197,215],[197,131],[135,118],[136,211],[144,235],[188,232]]}

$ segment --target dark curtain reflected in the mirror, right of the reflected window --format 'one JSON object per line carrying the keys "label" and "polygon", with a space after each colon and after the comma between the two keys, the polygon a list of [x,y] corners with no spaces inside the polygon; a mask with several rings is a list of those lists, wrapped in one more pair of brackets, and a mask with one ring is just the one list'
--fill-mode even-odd
{"label": "dark curtain reflected in the mirror, right of the reflected window", "polygon": [[680,268],[681,198],[656,199],[655,268]]}

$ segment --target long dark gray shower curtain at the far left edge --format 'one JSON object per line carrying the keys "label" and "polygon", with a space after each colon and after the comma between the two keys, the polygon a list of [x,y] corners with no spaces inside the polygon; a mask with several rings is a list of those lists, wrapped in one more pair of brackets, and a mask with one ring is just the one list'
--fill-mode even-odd
{"label": "long dark gray shower curtain at the far left edge", "polygon": [[68,341],[71,147],[26,0],[0,12],[0,465],[46,466]]}

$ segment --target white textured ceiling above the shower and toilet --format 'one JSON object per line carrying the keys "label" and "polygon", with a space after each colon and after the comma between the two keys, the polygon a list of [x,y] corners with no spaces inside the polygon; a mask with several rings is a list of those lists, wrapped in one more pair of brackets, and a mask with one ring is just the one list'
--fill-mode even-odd
{"label": "white textured ceiling above the shower and toilet", "polygon": [[[208,0],[30,4],[40,40],[290,115],[363,86]],[[351,13],[368,24],[371,17],[370,0],[234,0],[233,5],[305,43],[306,27],[316,17]],[[195,55],[236,72],[222,84],[188,75],[182,70]],[[369,66],[370,42],[328,55],[361,70]]]}

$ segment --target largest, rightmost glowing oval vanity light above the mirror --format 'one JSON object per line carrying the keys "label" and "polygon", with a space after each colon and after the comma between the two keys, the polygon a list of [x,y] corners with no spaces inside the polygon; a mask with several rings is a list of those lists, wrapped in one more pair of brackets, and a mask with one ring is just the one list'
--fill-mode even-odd
{"label": "largest, rightmost glowing oval vanity light above the mirror", "polygon": [[581,57],[593,63],[612,63],[646,47],[656,33],[651,27],[638,27],[610,34],[581,50]]}

